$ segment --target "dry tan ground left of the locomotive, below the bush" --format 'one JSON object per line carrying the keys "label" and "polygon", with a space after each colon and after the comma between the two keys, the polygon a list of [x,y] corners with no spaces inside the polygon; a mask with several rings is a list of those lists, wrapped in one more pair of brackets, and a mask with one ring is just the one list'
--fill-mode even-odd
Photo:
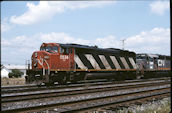
{"label": "dry tan ground left of the locomotive, below the bush", "polygon": [[1,78],[1,86],[24,85],[25,78]]}

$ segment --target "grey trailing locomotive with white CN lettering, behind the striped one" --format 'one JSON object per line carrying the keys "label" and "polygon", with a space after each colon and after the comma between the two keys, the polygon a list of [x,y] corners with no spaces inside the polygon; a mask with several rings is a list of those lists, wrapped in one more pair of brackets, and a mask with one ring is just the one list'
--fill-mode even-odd
{"label": "grey trailing locomotive with white CN lettering, behind the striped one", "polygon": [[136,62],[144,78],[170,76],[170,56],[159,54],[137,54]]}

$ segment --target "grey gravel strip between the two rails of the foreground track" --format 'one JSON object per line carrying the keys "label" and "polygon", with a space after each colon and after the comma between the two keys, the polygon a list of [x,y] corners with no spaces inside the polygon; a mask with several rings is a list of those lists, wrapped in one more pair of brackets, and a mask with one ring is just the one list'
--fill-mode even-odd
{"label": "grey gravel strip between the two rails of the foreground track", "polygon": [[139,92],[143,90],[153,90],[158,88],[165,88],[170,87],[170,85],[161,85],[155,87],[144,87],[144,88],[134,88],[130,90],[116,90],[116,91],[107,91],[107,92],[99,92],[99,93],[90,93],[90,94],[82,94],[80,96],[64,96],[64,97],[57,97],[57,98],[49,98],[49,99],[35,99],[34,101],[24,101],[24,102],[14,102],[14,103],[6,103],[2,104],[2,110],[8,109],[15,109],[15,108],[26,108],[31,106],[40,106],[40,105],[47,105],[47,104],[54,104],[54,103],[63,103],[63,102],[70,102],[70,101],[77,101],[83,99],[90,99],[90,98],[100,98],[100,97],[107,97],[112,95],[118,94],[125,94],[129,92]]}

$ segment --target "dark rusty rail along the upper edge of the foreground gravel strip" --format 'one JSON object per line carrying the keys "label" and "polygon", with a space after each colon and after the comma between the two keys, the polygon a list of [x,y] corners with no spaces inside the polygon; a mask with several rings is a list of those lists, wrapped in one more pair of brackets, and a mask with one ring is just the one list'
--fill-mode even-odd
{"label": "dark rusty rail along the upper edge of the foreground gravel strip", "polygon": [[9,96],[1,96],[1,103],[7,102],[17,102],[17,101],[25,101],[25,100],[32,100],[32,99],[41,99],[41,98],[52,98],[52,97],[59,97],[59,96],[67,96],[67,95],[76,95],[76,94],[84,94],[84,93],[92,93],[92,92],[102,92],[102,91],[111,91],[111,90],[119,90],[119,89],[131,89],[137,87],[145,87],[145,86],[156,86],[168,84],[170,82],[158,82],[158,83],[149,83],[149,84],[128,84],[126,86],[108,86],[108,87],[99,87],[99,88],[86,88],[81,90],[72,90],[72,91],[62,91],[62,92],[48,92],[48,93],[37,93],[37,94],[24,94],[24,95],[9,95]]}

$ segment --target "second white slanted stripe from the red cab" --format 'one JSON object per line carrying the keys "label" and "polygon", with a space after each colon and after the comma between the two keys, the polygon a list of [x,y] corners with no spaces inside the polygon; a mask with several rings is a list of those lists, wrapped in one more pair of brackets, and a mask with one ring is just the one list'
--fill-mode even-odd
{"label": "second white slanted stripe from the red cab", "polygon": [[85,54],[85,57],[90,61],[91,65],[94,67],[94,69],[101,69],[91,54]]}

